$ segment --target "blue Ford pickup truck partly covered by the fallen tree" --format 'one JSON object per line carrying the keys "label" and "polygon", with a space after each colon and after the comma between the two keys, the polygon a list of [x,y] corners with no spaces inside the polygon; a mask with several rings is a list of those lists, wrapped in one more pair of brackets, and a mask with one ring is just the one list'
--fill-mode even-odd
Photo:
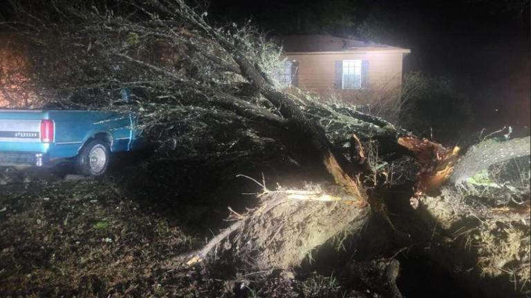
{"label": "blue Ford pickup truck partly covered by the fallen tree", "polygon": [[0,110],[0,165],[53,166],[73,159],[82,175],[102,175],[110,152],[140,145],[131,112]]}

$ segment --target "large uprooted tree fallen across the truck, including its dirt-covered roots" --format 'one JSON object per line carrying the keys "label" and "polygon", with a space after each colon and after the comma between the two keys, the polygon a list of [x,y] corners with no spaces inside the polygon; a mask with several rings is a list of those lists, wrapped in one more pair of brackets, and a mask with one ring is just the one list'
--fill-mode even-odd
{"label": "large uprooted tree fallen across the truck, including its dirt-covered roots", "polygon": [[[248,266],[289,268],[335,235],[362,232],[371,212],[389,221],[380,190],[393,184],[390,165],[408,154],[404,147],[421,165],[417,197],[437,190],[456,165],[457,173],[473,175],[469,169],[491,164],[478,166],[478,157],[465,157],[467,166],[460,166],[458,148],[416,139],[355,107],[282,90],[272,77],[279,48],[251,26],[210,26],[207,15],[185,1],[120,1],[116,8],[50,3],[35,16],[14,1],[15,21],[4,23],[30,45],[21,49],[32,65],[26,76],[37,95],[32,106],[133,110],[139,128],[169,155],[210,156],[228,164],[273,150],[294,163],[310,155],[319,161],[316,168],[328,172],[328,182],[303,189],[269,190],[258,181],[259,206],[232,212],[234,224],[185,256],[187,264],[202,261],[233,235],[234,249]],[[124,96],[130,97],[127,106]],[[529,137],[519,142],[529,148]],[[529,150],[496,155],[495,161],[516,155]],[[458,175],[452,180],[466,178]]]}

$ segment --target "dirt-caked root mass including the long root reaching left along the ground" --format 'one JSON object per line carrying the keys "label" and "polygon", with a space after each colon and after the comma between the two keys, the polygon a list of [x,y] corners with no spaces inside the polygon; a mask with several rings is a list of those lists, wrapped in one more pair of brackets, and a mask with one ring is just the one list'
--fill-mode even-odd
{"label": "dirt-caked root mass including the long root reaching left along the ground", "polygon": [[345,230],[360,232],[369,219],[368,205],[340,186],[308,184],[301,190],[263,186],[258,197],[257,208],[245,214],[232,211],[230,219],[235,222],[229,228],[203,248],[175,260],[191,266],[205,260],[225,240],[224,247],[234,248],[249,268],[290,268],[334,235]]}

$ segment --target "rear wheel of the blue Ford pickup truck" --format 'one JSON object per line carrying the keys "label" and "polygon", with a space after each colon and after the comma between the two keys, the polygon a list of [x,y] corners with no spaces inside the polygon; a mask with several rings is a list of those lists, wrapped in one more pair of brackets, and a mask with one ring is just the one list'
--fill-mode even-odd
{"label": "rear wheel of the blue Ford pickup truck", "polygon": [[99,139],[89,141],[75,158],[76,172],[86,176],[103,175],[109,165],[110,152],[108,143]]}

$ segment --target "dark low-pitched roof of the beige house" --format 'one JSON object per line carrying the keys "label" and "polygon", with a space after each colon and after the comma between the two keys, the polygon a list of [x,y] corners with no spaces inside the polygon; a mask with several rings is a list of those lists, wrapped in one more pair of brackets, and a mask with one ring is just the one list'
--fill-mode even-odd
{"label": "dark low-pitched roof of the beige house", "polygon": [[286,53],[336,53],[336,52],[368,52],[395,51],[409,53],[409,49],[387,46],[372,41],[344,39],[331,35],[286,35],[279,38]]}

